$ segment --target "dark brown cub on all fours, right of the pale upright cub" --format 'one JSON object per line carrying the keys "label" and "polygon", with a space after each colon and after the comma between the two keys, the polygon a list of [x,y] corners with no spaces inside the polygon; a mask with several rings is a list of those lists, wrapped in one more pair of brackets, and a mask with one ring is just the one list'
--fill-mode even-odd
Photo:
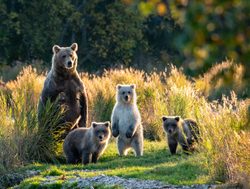
{"label": "dark brown cub on all fours, right of the pale upright cub", "polygon": [[181,119],[179,116],[163,116],[163,129],[167,135],[171,154],[176,154],[178,143],[185,153],[194,150],[194,142],[198,142],[198,126],[192,119]]}

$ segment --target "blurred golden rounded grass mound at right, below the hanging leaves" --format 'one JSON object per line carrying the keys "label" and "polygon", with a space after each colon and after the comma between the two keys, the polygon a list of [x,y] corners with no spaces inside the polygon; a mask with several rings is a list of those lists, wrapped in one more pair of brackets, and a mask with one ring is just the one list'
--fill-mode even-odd
{"label": "blurred golden rounded grass mound at right, below the hanging leaves", "polygon": [[195,88],[209,100],[229,96],[234,91],[238,97],[246,97],[249,93],[245,70],[242,64],[224,61],[209,69],[202,77],[196,79]]}

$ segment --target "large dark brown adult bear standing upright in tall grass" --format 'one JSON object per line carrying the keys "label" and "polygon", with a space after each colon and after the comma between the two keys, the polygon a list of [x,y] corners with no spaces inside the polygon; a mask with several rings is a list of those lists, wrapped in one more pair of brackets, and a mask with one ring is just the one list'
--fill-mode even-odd
{"label": "large dark brown adult bear standing upright in tall grass", "polygon": [[77,43],[70,47],[53,46],[52,67],[45,80],[38,105],[39,122],[47,100],[58,100],[60,106],[66,107],[62,123],[69,123],[69,127],[65,134],[73,127],[86,127],[87,124],[87,94],[76,70],[77,49]]}

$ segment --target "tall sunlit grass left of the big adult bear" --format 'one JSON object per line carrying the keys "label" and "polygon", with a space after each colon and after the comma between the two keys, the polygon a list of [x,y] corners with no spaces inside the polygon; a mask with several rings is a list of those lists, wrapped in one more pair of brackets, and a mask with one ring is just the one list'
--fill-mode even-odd
{"label": "tall sunlit grass left of the big adult bear", "polygon": [[56,127],[63,112],[48,102],[43,114],[46,120],[38,128],[37,103],[43,80],[43,75],[27,67],[15,81],[7,83],[7,93],[0,91],[1,174],[33,160],[55,160]]}

